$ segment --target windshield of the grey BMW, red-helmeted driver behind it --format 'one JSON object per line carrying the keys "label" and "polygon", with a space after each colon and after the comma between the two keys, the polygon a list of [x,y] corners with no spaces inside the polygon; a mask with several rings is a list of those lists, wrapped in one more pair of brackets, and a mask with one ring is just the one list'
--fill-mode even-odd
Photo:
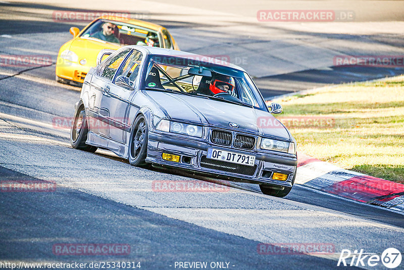
{"label": "windshield of the grey BMW, red-helmeted driver behind it", "polygon": [[220,60],[208,62],[154,55],[149,58],[143,79],[143,87],[148,90],[193,95],[267,111],[248,74]]}

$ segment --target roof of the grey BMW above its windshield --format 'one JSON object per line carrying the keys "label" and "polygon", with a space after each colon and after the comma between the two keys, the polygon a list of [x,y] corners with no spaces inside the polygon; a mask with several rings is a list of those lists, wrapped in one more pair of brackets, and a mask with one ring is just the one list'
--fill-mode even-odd
{"label": "roof of the grey BMW above its windshield", "polygon": [[133,48],[133,49],[136,49],[139,51],[146,51],[146,53],[149,55],[175,56],[175,57],[199,60],[201,62],[207,62],[207,63],[215,64],[218,66],[230,67],[233,69],[237,69],[237,70],[246,72],[242,67],[228,63],[224,60],[217,59],[217,57],[219,57],[219,58],[226,57],[227,58],[227,56],[225,56],[225,55],[211,55],[211,56],[197,55],[197,54],[192,54],[192,53],[188,53],[188,52],[184,52],[184,51],[176,51],[176,50],[159,48],[159,47],[137,46],[137,45],[125,46],[123,48]]}

